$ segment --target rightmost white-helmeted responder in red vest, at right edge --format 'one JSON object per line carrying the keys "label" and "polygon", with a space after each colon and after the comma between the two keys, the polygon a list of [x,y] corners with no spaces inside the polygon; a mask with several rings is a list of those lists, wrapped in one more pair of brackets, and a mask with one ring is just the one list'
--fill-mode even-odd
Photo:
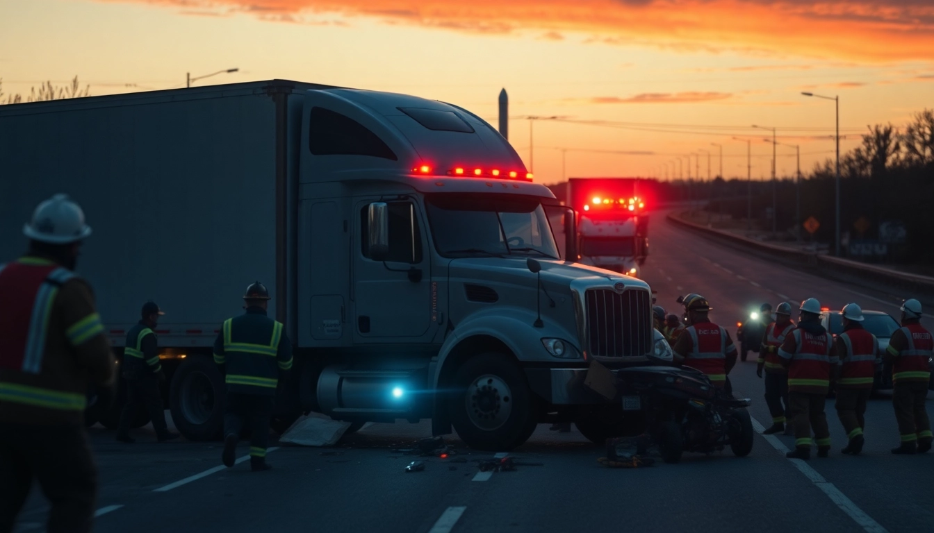
{"label": "rightmost white-helmeted responder in red vest, at right edge", "polygon": [[920,320],[921,302],[912,299],[902,303],[902,328],[892,333],[885,351],[885,358],[892,363],[892,404],[901,435],[901,445],[893,454],[924,454],[931,449],[925,400],[930,380],[927,361],[934,356],[934,340]]}

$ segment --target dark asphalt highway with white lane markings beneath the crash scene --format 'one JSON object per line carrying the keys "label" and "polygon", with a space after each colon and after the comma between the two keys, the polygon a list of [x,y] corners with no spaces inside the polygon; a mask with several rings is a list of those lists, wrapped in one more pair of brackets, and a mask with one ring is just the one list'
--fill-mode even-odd
{"label": "dark asphalt highway with white lane markings beneath the crash scene", "polygon": [[[644,277],[666,308],[676,308],[678,294],[698,292],[713,305],[713,319],[724,325],[735,324],[762,302],[808,297],[833,308],[859,302],[864,309],[898,316],[900,295],[787,271],[672,228],[662,217],[653,224],[653,255]],[[735,327],[729,330],[735,333]],[[738,364],[731,379],[737,395],[754,400],[754,419],[768,426],[754,358]],[[932,403],[928,400],[928,412],[934,414]],[[126,445],[95,427],[90,434],[101,482],[95,530],[934,530],[934,454],[889,454],[899,444],[899,432],[888,400],[872,400],[866,419],[862,456],[839,453],[846,439],[829,404],[834,446],[828,459],[787,460],[783,452],[793,445],[792,437],[757,435],[752,454],[744,458],[727,450],[636,470],[603,468],[597,463],[604,455],[601,447],[576,430],[559,434],[542,425],[511,455],[543,466],[492,475],[478,474],[474,462],[491,455],[472,453],[456,437],[448,442],[460,445],[460,454],[430,457],[424,471],[404,472],[417,457],[393,450],[430,436],[427,422],[376,424],[335,448],[282,446],[268,456],[275,469],[258,474],[247,463],[218,468],[217,443],[157,444],[151,428],[144,428],[135,432],[137,443]],[[247,455],[247,446],[241,442],[238,456]],[[41,531],[46,511],[36,491],[17,531]]]}

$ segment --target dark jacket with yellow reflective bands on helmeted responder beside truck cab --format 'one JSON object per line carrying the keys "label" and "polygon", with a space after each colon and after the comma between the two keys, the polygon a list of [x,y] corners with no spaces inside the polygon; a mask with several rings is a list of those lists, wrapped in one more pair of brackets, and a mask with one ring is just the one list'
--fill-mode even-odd
{"label": "dark jacket with yellow reflective bands on helmeted responder beside truck cab", "polygon": [[291,344],[282,324],[251,306],[224,321],[214,342],[214,362],[223,365],[227,390],[273,396],[279,372],[292,366]]}

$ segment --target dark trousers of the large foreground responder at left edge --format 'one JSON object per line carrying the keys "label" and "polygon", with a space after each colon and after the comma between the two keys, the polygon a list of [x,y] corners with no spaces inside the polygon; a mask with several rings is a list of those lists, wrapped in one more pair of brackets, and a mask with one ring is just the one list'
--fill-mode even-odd
{"label": "dark trousers of the large foreground responder at left edge", "polygon": [[80,426],[0,422],[0,533],[10,533],[33,480],[49,499],[49,533],[91,531],[97,467]]}

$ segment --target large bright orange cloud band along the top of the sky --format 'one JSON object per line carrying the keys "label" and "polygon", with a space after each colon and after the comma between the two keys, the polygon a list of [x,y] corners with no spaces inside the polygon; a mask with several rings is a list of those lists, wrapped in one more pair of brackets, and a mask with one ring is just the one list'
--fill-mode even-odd
{"label": "large bright orange cloud band along the top of the sky", "polygon": [[[481,34],[594,35],[676,52],[934,61],[929,0],[108,0],[186,10],[375,17]],[[285,20],[291,21],[286,18]]]}

